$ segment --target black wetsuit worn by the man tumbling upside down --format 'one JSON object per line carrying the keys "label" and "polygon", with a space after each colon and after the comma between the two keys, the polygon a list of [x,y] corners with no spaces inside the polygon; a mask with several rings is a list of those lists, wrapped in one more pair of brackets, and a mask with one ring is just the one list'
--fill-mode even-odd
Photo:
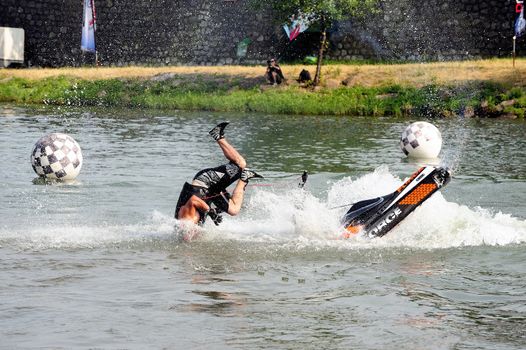
{"label": "black wetsuit worn by the man tumbling upside down", "polygon": [[[240,176],[241,168],[232,162],[199,171],[195,174],[192,184],[188,182],[184,184],[175,208],[175,218],[177,219],[179,210],[193,195],[201,198],[208,205],[214,203],[219,211],[227,212],[230,195],[225,189],[239,180]],[[199,214],[202,223],[205,213],[199,212]]]}

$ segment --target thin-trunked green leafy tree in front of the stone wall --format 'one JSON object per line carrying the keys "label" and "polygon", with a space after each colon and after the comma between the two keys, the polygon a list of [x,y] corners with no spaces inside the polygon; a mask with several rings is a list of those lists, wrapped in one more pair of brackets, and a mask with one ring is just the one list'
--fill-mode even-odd
{"label": "thin-trunked green leafy tree in front of the stone wall", "polygon": [[[318,50],[318,65],[314,85],[320,82],[323,54],[327,46],[327,30],[336,21],[363,18],[378,11],[378,0],[256,0],[262,6],[270,6],[276,20],[284,23],[292,15],[302,13],[309,16],[311,25],[317,24],[321,31]],[[266,4],[266,5],[261,5]]]}

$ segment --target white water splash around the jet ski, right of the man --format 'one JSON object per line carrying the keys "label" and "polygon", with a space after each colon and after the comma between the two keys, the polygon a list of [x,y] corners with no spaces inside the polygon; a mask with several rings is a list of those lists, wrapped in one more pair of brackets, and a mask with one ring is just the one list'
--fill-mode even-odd
{"label": "white water splash around the jet ski, right of the man", "polygon": [[[382,238],[338,239],[343,232],[340,218],[345,204],[392,192],[402,180],[387,167],[358,179],[344,178],[330,185],[327,201],[308,192],[283,194],[257,191],[247,214],[225,218],[220,227],[208,226],[213,239],[268,241],[292,244],[364,247],[414,247],[422,249],[478,245],[508,245],[526,242],[526,221],[501,212],[448,202],[438,192]],[[336,207],[337,209],[331,210]]]}

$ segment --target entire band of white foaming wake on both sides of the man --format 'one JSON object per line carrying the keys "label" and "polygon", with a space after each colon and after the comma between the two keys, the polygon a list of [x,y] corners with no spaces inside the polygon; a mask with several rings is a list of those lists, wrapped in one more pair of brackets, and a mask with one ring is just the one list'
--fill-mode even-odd
{"label": "entire band of white foaming wake on both sides of the man", "polygon": [[[220,226],[208,220],[199,228],[201,241],[276,243],[284,249],[320,247],[370,249],[411,247],[419,249],[479,245],[508,245],[526,242],[526,221],[501,212],[468,208],[448,202],[435,193],[386,236],[339,239],[340,218],[345,204],[374,198],[393,191],[402,180],[386,166],[357,179],[346,177],[329,184],[326,200],[307,190],[251,190],[245,209],[238,217],[225,216]],[[331,209],[339,207],[336,209]],[[107,245],[156,245],[181,243],[185,231],[171,216],[154,211],[141,223],[118,225],[41,226],[20,230],[0,228],[0,246],[19,248],[91,248]]]}

